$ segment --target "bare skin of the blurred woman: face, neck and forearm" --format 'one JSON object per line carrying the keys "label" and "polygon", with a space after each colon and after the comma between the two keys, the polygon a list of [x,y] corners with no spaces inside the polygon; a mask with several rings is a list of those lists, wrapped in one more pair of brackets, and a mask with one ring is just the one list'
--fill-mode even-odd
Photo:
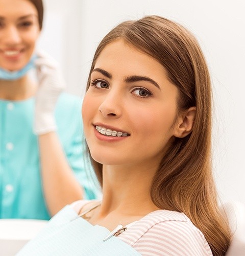
{"label": "bare skin of the blurred woman: face, neck and forearm", "polygon": [[[30,1],[0,0],[2,68],[15,71],[24,67],[33,55],[39,34],[38,13]],[[10,56],[8,51],[16,53]],[[37,86],[28,76],[15,81],[0,80],[0,99],[26,100],[35,96]],[[66,204],[82,199],[83,190],[68,165],[57,133],[39,135],[38,141],[43,191],[53,216]]]}

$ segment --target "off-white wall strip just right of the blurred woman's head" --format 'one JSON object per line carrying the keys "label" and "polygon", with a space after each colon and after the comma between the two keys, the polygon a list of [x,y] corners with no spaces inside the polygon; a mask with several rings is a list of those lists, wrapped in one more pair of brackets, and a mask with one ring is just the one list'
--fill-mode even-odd
{"label": "off-white wall strip just right of the blurred woman's head", "polygon": [[61,64],[67,91],[81,95],[81,0],[43,0],[44,24],[39,47]]}

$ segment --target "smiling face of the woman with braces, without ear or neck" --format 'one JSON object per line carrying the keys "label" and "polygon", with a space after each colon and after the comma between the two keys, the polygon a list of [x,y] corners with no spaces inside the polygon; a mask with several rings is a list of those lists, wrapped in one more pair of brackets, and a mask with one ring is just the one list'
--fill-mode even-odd
{"label": "smiling face of the woman with braces, without ear or neck", "polygon": [[90,82],[82,116],[93,159],[158,165],[177,118],[178,90],[164,67],[120,39],[102,51]]}

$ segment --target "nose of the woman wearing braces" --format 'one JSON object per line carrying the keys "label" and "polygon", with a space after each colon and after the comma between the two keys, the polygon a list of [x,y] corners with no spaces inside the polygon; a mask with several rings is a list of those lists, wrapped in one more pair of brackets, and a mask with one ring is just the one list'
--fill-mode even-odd
{"label": "nose of the woman wearing braces", "polygon": [[122,114],[122,97],[118,90],[110,89],[103,99],[99,111],[107,118],[119,118]]}

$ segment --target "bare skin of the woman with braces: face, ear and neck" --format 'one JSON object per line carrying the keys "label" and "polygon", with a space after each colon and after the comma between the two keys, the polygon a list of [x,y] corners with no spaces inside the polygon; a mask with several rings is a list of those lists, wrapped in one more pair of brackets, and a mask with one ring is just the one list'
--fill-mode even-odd
{"label": "bare skin of the woman with braces: face, ear and neck", "polygon": [[[186,136],[195,114],[194,108],[177,113],[177,98],[177,87],[152,57],[122,39],[102,51],[82,107],[88,147],[103,164],[103,200],[90,223],[112,230],[159,210],[150,198],[153,176],[171,138]],[[101,135],[95,125],[129,136]]]}

